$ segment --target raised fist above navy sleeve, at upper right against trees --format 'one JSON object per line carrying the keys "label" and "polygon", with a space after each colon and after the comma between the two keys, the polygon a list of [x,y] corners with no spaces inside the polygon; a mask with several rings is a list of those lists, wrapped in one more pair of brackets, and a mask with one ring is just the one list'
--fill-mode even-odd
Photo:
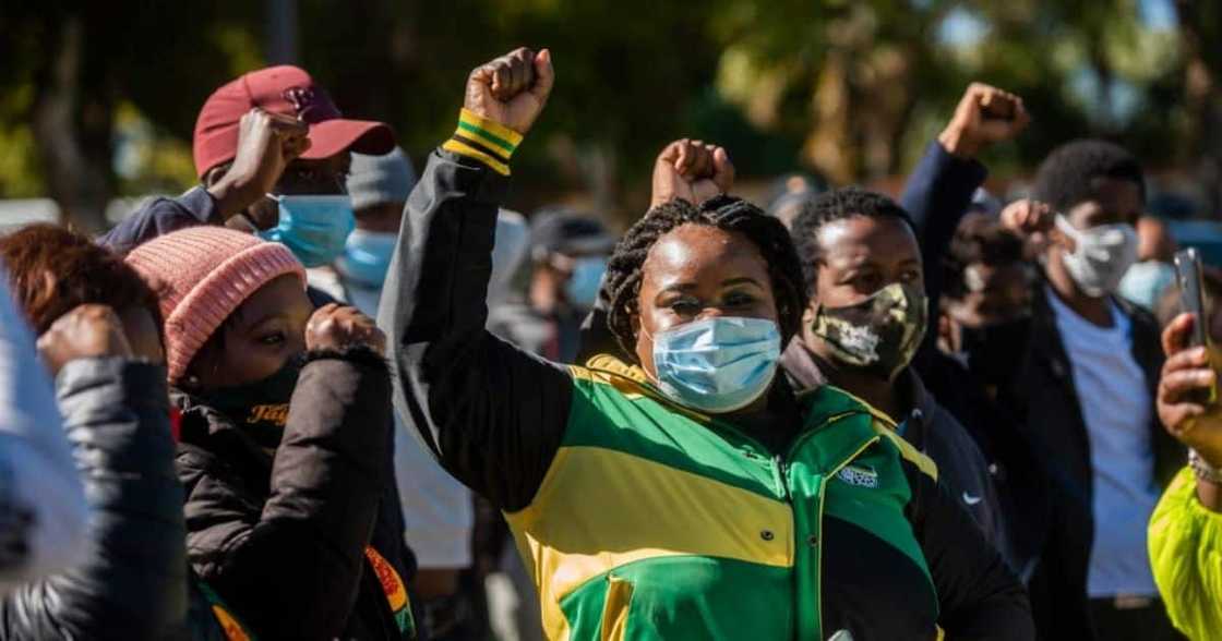
{"label": "raised fist above navy sleeve, at upper right against trees", "polygon": [[974,82],[963,93],[954,116],[937,140],[957,156],[975,158],[993,143],[1013,139],[1029,122],[1031,117],[1022,98]]}

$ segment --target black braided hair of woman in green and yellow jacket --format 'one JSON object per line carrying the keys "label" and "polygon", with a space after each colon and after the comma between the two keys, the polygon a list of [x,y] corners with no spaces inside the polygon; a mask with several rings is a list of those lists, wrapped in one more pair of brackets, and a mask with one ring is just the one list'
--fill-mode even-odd
{"label": "black braided hair of woman in green and yellow jacket", "polygon": [[602,287],[610,302],[607,328],[620,347],[627,354],[637,353],[632,316],[640,313],[640,283],[649,250],[661,237],[683,225],[704,225],[741,233],[759,249],[772,280],[781,344],[788,344],[798,332],[802,310],[807,306],[800,281],[802,265],[789,233],[778,220],[747,200],[719,195],[700,206],[681,199],[657,205],[637,221],[616,245]]}

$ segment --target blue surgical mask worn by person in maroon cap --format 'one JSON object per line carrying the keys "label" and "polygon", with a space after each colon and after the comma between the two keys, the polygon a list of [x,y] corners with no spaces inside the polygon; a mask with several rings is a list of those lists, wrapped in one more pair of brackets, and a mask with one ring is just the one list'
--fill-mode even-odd
{"label": "blue surgical mask worn by person in maroon cap", "polygon": [[275,195],[280,222],[259,238],[282,243],[307,267],[330,265],[343,252],[357,222],[347,195]]}

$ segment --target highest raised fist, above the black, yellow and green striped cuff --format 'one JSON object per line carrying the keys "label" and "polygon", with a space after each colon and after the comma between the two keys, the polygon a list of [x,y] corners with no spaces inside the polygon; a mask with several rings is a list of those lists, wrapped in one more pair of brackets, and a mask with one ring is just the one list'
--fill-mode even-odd
{"label": "highest raised fist, above the black, yellow and green striped cuff", "polygon": [[470,72],[463,107],[525,134],[547,104],[555,82],[551,51],[535,54],[523,46]]}

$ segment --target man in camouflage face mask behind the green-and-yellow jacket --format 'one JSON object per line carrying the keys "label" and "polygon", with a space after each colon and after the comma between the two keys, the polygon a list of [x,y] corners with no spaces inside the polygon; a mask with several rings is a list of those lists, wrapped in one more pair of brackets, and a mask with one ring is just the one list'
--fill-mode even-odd
{"label": "man in camouflage face mask behind the green-and-yellow jacket", "polygon": [[920,247],[908,214],[890,198],[837,189],[809,203],[793,239],[810,304],[781,365],[797,391],[835,385],[895,420],[938,466],[985,536],[1007,534],[989,464],[909,368],[929,322]]}

